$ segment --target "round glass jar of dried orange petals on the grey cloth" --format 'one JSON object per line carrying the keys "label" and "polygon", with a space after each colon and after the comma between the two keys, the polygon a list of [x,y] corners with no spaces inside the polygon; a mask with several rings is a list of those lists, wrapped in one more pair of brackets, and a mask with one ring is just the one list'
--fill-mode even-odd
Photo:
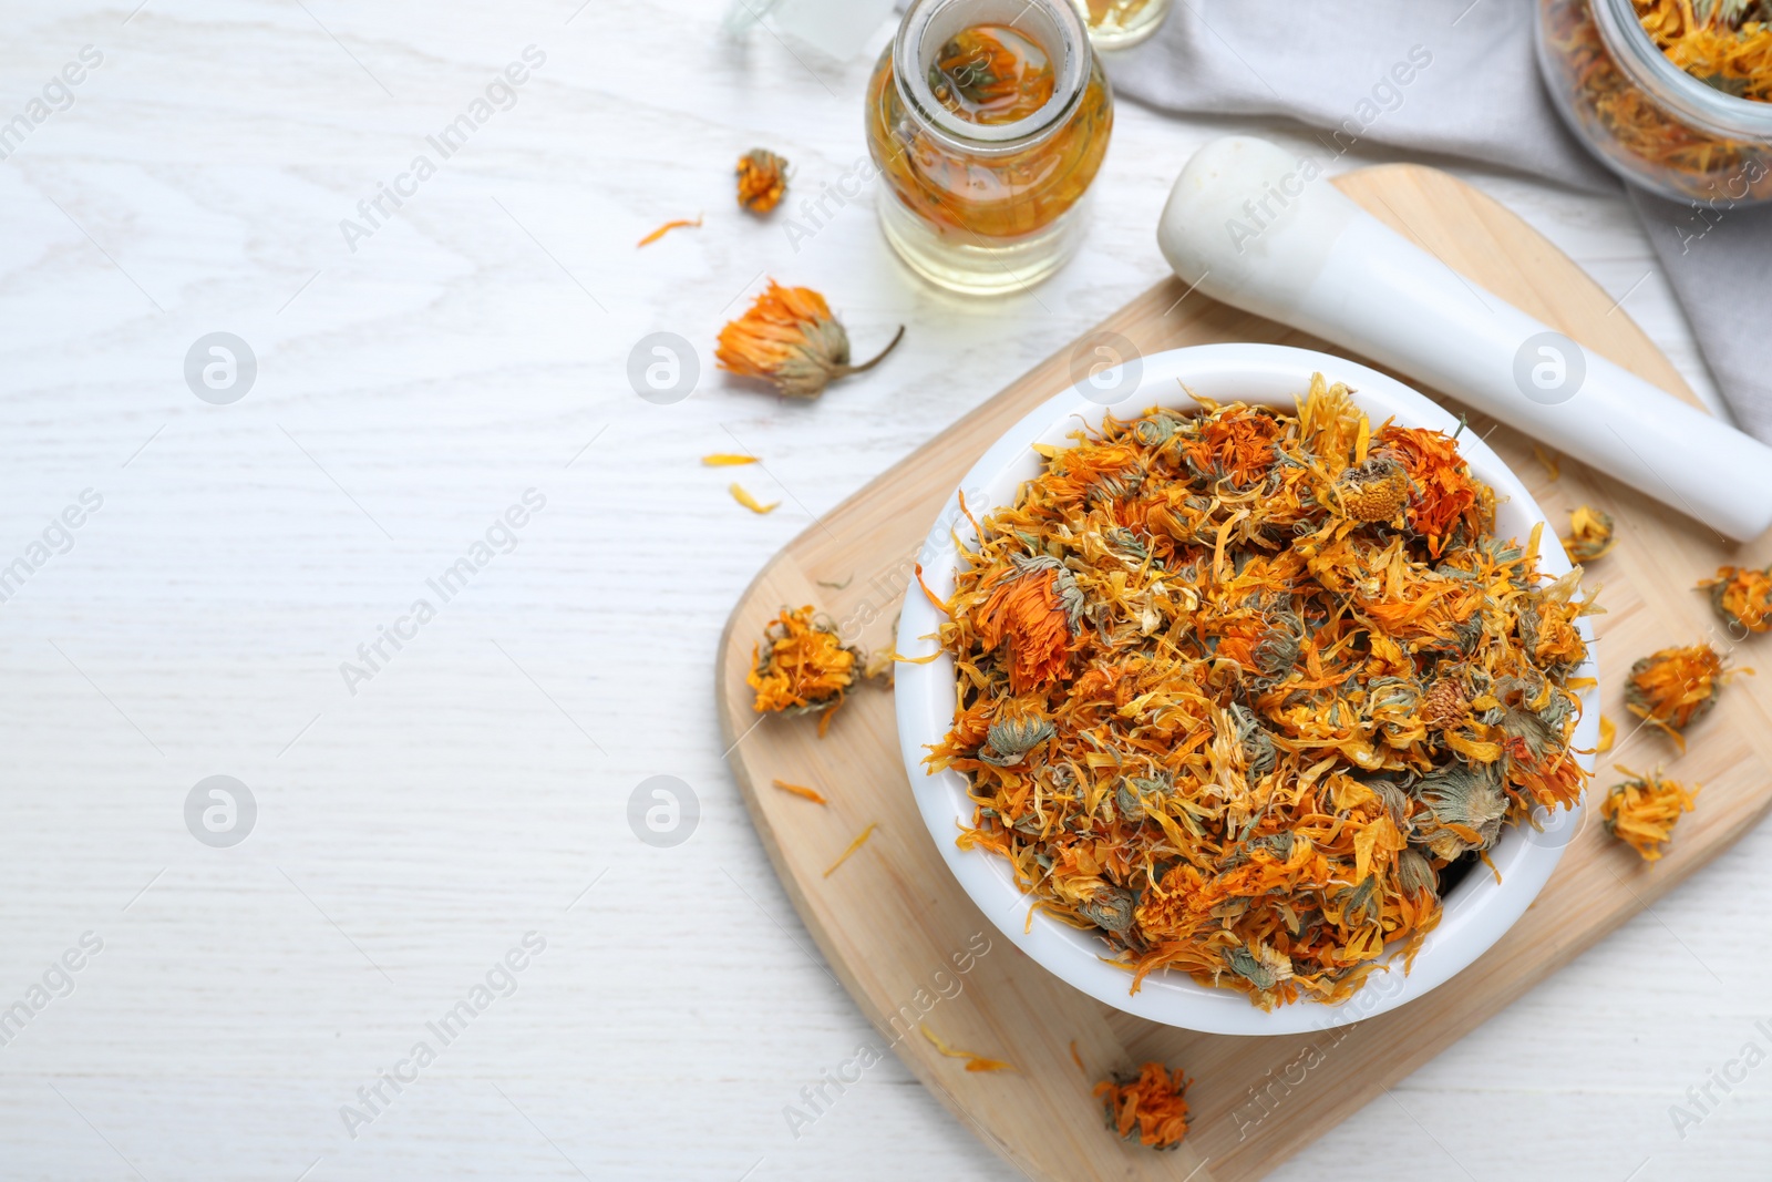
{"label": "round glass jar of dried orange petals on the grey cloth", "polygon": [[1714,209],[1772,198],[1772,19],[1758,0],[1540,0],[1538,64],[1613,172]]}

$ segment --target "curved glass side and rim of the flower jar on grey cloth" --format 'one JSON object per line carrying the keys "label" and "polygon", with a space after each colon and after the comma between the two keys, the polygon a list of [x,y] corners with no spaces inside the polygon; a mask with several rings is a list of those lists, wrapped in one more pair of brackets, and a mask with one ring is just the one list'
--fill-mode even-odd
{"label": "curved glass side and rim of the flower jar on grey cloth", "polygon": [[1714,206],[1772,198],[1772,103],[1675,66],[1630,0],[1540,0],[1538,64],[1565,122],[1623,179]]}

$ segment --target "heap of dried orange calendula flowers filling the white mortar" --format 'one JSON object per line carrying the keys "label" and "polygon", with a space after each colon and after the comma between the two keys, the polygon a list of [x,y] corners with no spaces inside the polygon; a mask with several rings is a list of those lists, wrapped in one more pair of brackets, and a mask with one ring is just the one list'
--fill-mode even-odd
{"label": "heap of dried orange calendula flowers filling the white mortar", "polygon": [[1341,1001],[1441,918],[1441,881],[1581,799],[1588,647],[1543,533],[1494,533],[1453,438],[1150,409],[1037,448],[975,523],[939,642],[962,847],[1104,957],[1263,1008]]}

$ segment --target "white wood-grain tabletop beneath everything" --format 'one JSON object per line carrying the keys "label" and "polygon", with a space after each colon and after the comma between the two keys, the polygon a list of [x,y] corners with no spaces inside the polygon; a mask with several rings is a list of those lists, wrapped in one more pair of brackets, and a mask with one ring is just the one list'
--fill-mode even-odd
{"label": "white wood-grain tabletop beneath everything", "polygon": [[[12,0],[0,37],[0,121],[28,124],[0,165],[0,565],[25,560],[0,1177],[1006,1177],[895,1061],[790,1134],[867,1026],[727,776],[714,642],[815,514],[1162,275],[1157,209],[1221,128],[1122,105],[1083,257],[969,305],[895,264],[870,195],[797,250],[732,206],[753,145],[794,161],[790,204],[843,177],[872,53],[721,43],[718,0],[135,4]],[[526,46],[514,106],[443,159],[425,136]],[[1465,175],[1708,388],[1620,200]],[[409,195],[363,225],[379,184]],[[732,385],[711,342],[764,275],[828,292],[861,353],[907,342],[812,406]],[[230,404],[184,379],[213,331],[257,358]],[[629,388],[650,331],[702,351],[688,400]],[[732,450],[780,510],[698,464]],[[103,505],[55,528],[85,489]],[[526,489],[546,507],[494,528]],[[427,579],[489,530],[445,603]],[[255,801],[232,847],[186,826],[213,774]],[[627,824],[654,774],[700,799],[672,849]],[[1745,835],[1281,1177],[1772,1177],[1772,1067],[1683,1138],[1669,1116],[1772,1051],[1768,859]]]}

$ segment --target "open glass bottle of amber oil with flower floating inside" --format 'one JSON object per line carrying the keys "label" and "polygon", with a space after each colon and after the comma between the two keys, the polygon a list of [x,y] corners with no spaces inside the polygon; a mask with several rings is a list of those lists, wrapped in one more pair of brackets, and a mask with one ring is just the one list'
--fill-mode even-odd
{"label": "open glass bottle of amber oil with flower floating inside", "polygon": [[950,291],[1037,284],[1083,237],[1111,129],[1069,0],[913,0],[867,94],[886,241]]}

